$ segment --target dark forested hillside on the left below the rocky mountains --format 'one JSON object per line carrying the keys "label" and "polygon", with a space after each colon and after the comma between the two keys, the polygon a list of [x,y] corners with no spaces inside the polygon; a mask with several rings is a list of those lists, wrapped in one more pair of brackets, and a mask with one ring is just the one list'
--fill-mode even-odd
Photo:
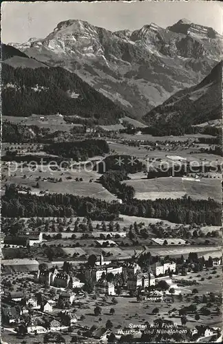
{"label": "dark forested hillside on the left below the rocky mountains", "polygon": [[[52,115],[94,118],[100,125],[115,124],[127,112],[76,74],[61,67],[13,68],[3,63],[3,116]],[[78,98],[72,98],[72,92]],[[78,117],[77,117],[78,118]]]}

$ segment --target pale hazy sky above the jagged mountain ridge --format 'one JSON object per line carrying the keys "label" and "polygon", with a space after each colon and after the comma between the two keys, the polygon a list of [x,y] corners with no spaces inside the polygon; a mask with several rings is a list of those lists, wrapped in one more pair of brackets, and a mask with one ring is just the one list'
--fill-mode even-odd
{"label": "pale hazy sky above the jagged mountain ridge", "polygon": [[82,19],[108,30],[136,30],[145,24],[162,27],[186,18],[222,33],[223,3],[219,1],[68,2],[39,1],[1,3],[3,43],[44,38],[60,21]]}

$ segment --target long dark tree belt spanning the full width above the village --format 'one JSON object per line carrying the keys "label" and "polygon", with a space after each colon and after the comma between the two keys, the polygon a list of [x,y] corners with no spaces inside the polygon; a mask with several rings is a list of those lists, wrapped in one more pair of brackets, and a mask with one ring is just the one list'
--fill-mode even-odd
{"label": "long dark tree belt spanning the full width above the village", "polygon": [[181,224],[204,224],[221,226],[222,207],[214,200],[128,199],[123,204],[105,202],[92,197],[54,193],[31,195],[19,193],[17,186],[6,186],[1,199],[3,217],[72,217],[90,216],[92,219],[116,219],[119,215],[154,217]]}

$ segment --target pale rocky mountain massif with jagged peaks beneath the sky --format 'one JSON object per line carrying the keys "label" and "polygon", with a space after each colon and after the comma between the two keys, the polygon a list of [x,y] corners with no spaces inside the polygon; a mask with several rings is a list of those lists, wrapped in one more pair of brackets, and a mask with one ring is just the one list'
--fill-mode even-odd
{"label": "pale rocky mountain massif with jagged peaks beneath the sky", "polygon": [[222,36],[185,21],[167,29],[151,23],[134,32],[111,32],[87,21],[67,20],[45,39],[14,46],[39,61],[75,72],[140,117],[211,72],[220,61]]}

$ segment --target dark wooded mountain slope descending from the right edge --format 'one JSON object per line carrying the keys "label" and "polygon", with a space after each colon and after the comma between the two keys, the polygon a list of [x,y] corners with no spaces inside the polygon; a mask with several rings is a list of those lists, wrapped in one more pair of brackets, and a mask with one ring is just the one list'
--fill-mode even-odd
{"label": "dark wooded mountain slope descending from the right edge", "polygon": [[176,92],[144,116],[153,126],[198,125],[222,118],[222,61],[196,86]]}

